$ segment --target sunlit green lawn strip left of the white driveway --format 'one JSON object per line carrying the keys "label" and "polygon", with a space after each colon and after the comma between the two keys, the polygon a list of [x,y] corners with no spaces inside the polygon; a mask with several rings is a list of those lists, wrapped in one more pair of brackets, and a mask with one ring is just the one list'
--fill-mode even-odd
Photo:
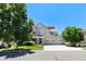
{"label": "sunlit green lawn strip left of the white driveway", "polygon": [[[12,47],[10,49],[15,49],[15,47]],[[19,49],[28,49],[28,50],[44,50],[44,46],[36,44],[36,46],[21,46]]]}

